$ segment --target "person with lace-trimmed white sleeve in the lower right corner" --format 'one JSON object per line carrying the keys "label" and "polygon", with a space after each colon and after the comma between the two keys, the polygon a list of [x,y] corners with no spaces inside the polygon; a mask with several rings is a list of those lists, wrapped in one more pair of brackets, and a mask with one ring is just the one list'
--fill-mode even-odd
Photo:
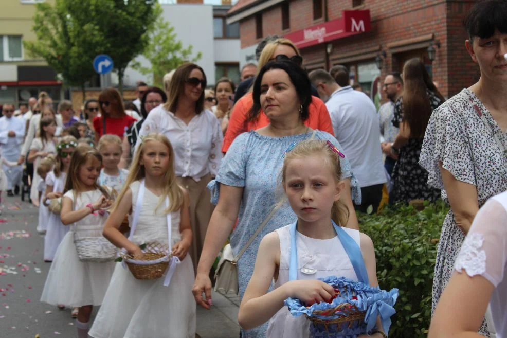
{"label": "person with lace-trimmed white sleeve in the lower right corner", "polygon": [[[507,192],[477,213],[461,246],[455,271],[440,297],[428,338],[482,337],[486,314],[490,336],[507,337]],[[489,311],[488,311],[489,312]]]}

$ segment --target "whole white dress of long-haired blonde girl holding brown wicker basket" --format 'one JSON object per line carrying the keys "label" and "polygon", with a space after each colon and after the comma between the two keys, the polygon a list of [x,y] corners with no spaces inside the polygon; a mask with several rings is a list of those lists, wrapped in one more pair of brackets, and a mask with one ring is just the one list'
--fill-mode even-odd
{"label": "whole white dress of long-haired blonde girl holding brown wicker basket", "polygon": [[[139,181],[130,185],[134,214]],[[149,189],[133,236],[140,245],[158,241],[167,244],[165,204],[154,210],[159,198]],[[181,240],[180,212],[172,212],[171,246]],[[167,273],[167,271],[166,271]],[[121,263],[116,268],[102,306],[88,332],[93,338],[194,338],[196,305],[192,295],[194,270],[190,255],[176,266],[168,287],[164,276],[154,280],[135,279]]]}

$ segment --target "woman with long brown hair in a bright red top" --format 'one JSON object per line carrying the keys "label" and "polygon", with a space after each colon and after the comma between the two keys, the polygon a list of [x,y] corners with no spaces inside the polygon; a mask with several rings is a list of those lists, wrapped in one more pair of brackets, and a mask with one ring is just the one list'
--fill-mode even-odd
{"label": "woman with long brown hair in a bright red top", "polygon": [[125,113],[120,93],[113,87],[105,88],[100,92],[99,109],[101,116],[97,116],[93,120],[96,141],[105,134],[113,134],[123,138],[126,130],[137,121]]}

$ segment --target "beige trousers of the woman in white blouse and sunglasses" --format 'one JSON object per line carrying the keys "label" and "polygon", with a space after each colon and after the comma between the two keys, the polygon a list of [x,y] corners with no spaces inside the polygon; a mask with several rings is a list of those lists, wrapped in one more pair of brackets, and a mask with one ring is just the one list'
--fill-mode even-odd
{"label": "beige trousers of the woman in white blouse and sunglasses", "polygon": [[190,246],[190,257],[194,264],[194,272],[197,271],[197,264],[203,251],[204,237],[208,230],[209,219],[214,206],[211,204],[211,194],[206,188],[211,175],[201,177],[201,181],[195,182],[192,177],[178,177],[178,182],[190,195],[190,225],[192,227],[192,245]]}

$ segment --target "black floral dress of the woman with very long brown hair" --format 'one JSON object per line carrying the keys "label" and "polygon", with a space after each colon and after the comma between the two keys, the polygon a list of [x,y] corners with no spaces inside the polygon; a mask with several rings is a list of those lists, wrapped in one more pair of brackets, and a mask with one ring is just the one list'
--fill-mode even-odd
{"label": "black floral dress of the woman with very long brown hair", "polygon": [[[427,91],[431,109],[436,109],[442,100],[433,92]],[[394,104],[394,118],[392,124],[400,128],[403,121],[403,97]],[[392,172],[393,190],[392,202],[405,202],[411,200],[426,200],[434,202],[440,199],[440,189],[427,184],[428,173],[419,165],[419,156],[423,146],[422,138],[409,138],[408,143],[400,149],[400,155]]]}

